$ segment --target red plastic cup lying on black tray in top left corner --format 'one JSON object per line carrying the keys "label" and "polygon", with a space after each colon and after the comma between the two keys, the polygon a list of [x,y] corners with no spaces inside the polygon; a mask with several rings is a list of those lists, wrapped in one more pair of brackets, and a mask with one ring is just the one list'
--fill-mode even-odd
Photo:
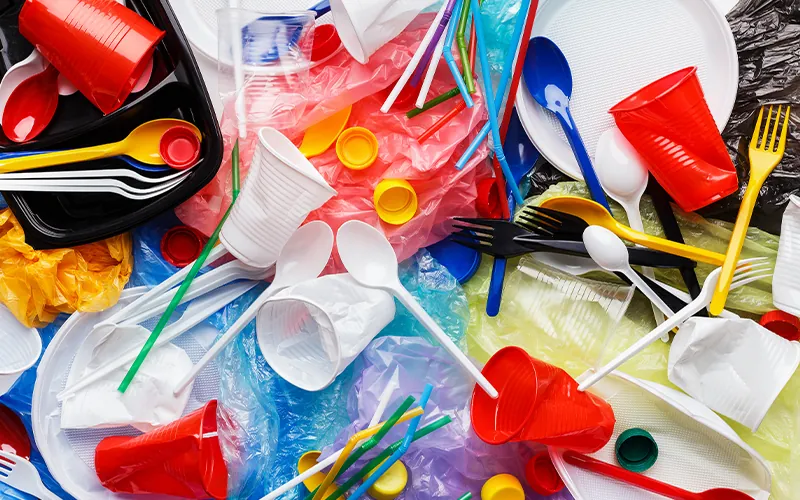
{"label": "red plastic cup lying on black tray in top left corner", "polygon": [[106,114],[128,98],[165,34],[114,0],[25,0],[19,31]]}

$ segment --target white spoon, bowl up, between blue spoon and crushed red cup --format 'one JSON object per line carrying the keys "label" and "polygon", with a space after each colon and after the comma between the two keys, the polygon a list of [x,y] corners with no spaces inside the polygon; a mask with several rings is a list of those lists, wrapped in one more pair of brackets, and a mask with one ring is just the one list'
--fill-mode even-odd
{"label": "white spoon, bowl up, between blue spoon and crushed red cup", "polygon": [[[606,194],[625,209],[631,229],[644,232],[639,207],[650,174],[642,157],[618,128],[606,130],[600,136],[594,156],[594,169]],[[655,273],[648,267],[642,268],[642,274],[650,279],[655,278]],[[664,322],[664,315],[655,304],[653,315],[659,325]]]}

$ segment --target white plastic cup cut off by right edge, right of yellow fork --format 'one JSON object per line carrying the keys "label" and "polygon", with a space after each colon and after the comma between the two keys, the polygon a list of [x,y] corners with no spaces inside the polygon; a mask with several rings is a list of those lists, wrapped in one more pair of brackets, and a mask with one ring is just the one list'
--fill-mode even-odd
{"label": "white plastic cup cut off by right edge, right of yellow fork", "polygon": [[772,279],[772,300],[778,309],[800,316],[800,197],[789,198],[783,214],[778,262]]}

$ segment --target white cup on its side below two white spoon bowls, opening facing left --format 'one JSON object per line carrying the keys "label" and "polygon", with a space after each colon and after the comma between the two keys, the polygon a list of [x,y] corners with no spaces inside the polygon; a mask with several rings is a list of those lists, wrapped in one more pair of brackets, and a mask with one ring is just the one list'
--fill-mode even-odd
{"label": "white cup on its side below two white spoon bowls, opening facing left", "polygon": [[269,299],[256,318],[267,363],[290,384],[325,389],[395,315],[383,290],[359,285],[349,274],[306,281]]}

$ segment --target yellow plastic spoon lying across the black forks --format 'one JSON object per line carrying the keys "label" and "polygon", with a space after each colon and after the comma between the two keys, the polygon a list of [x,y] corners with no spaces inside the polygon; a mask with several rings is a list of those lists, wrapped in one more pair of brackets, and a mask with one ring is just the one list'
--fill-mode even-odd
{"label": "yellow plastic spoon lying across the black forks", "polygon": [[721,253],[703,250],[702,248],[675,243],[656,236],[634,231],[624,224],[620,224],[608,213],[602,205],[592,200],[578,198],[575,196],[559,196],[550,198],[542,203],[542,207],[558,210],[570,215],[574,215],[586,221],[591,226],[602,226],[620,238],[632,241],[638,245],[659,250],[672,255],[686,257],[687,259],[705,262],[714,266],[721,266],[725,262],[725,256]]}

